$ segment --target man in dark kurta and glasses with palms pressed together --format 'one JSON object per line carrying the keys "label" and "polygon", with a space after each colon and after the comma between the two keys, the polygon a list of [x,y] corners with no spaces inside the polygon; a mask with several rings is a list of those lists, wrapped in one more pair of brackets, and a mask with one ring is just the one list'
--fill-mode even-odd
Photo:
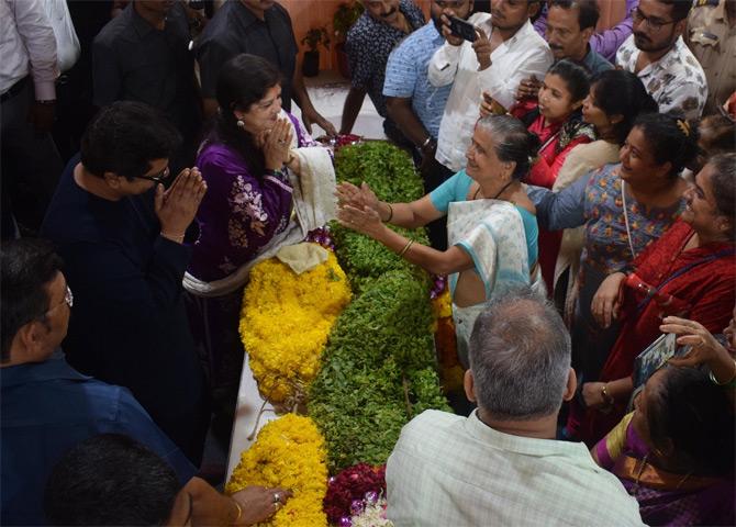
{"label": "man in dark kurta and glasses with palms pressed together", "polygon": [[[168,177],[178,138],[140,102],[100,110],[62,175],[42,236],[55,244],[74,291],[69,363],[131,390],[199,466],[209,401],[181,280],[191,256],[183,234],[207,184],[194,169]],[[167,179],[176,181],[165,192]]]}

